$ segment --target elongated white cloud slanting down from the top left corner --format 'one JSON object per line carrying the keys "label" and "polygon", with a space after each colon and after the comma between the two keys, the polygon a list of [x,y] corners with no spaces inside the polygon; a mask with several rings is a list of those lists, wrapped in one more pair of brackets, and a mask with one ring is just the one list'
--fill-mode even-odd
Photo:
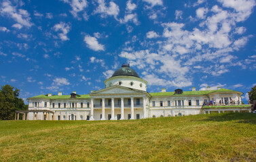
{"label": "elongated white cloud slanting down from the top left corner", "polygon": [[24,9],[18,9],[17,11],[17,6],[18,5],[12,5],[8,0],[3,1],[0,7],[0,14],[12,18],[22,26],[30,28],[33,25],[33,23],[31,23],[30,14]]}

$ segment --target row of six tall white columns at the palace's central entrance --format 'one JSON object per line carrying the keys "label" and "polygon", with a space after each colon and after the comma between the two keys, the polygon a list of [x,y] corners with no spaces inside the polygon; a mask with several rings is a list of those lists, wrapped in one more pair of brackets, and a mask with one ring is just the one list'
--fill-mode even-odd
{"label": "row of six tall white columns at the palace's central entrance", "polygon": [[[96,98],[98,99],[98,98]],[[105,98],[102,99],[101,119],[105,120]],[[120,99],[120,98],[118,98]],[[111,120],[115,120],[115,98],[111,98]],[[143,118],[146,118],[146,97],[143,97]],[[124,97],[121,97],[121,118],[124,119]],[[130,97],[130,119],[134,119],[134,97]],[[94,98],[91,97],[90,120],[94,120]]]}

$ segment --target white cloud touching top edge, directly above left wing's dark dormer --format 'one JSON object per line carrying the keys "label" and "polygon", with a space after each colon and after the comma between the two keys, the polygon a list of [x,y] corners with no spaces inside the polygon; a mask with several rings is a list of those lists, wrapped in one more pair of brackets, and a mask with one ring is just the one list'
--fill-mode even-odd
{"label": "white cloud touching top edge, directly above left wing's dark dormer", "polygon": [[[62,0],[65,3],[69,3],[71,5],[72,10],[70,13],[74,18],[78,18],[77,13],[84,11],[86,7],[88,7],[88,2],[86,0]],[[84,12],[86,14],[86,12]]]}

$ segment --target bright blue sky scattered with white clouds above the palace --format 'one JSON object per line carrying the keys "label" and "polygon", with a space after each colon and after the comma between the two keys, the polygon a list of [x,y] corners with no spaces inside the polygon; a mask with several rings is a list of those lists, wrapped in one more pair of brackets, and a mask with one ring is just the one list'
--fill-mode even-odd
{"label": "bright blue sky scattered with white clouds above the palace", "polygon": [[255,0],[0,3],[0,84],[23,99],[88,94],[126,61],[148,92],[256,85]]}

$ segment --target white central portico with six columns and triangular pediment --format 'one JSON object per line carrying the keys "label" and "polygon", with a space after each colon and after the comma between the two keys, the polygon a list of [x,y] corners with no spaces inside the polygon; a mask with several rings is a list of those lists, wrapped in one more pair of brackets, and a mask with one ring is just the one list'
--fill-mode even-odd
{"label": "white central portico with six columns and triangular pediment", "polygon": [[[112,93],[113,90],[117,89],[120,93]],[[141,116],[140,118],[147,117],[147,97],[149,97],[149,94],[142,90],[116,85],[91,92],[90,95],[90,120],[94,120],[96,115],[100,115],[100,120],[108,119],[106,115],[111,115],[111,120],[136,119],[137,117],[134,117],[134,108],[136,113]],[[94,110],[100,110],[97,111],[100,114],[95,113]]]}

